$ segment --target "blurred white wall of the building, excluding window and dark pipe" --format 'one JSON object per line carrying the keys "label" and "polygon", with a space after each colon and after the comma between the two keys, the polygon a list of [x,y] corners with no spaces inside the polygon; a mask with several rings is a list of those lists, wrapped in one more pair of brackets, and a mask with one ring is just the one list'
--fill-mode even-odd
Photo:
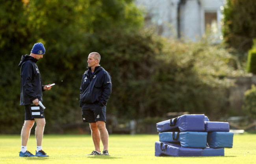
{"label": "blurred white wall of the building, excluding window and dark pipe", "polygon": [[218,33],[221,35],[221,9],[224,0],[187,0],[180,8],[180,29],[178,29],[178,4],[180,0],[135,0],[138,7],[144,7],[145,11],[151,13],[152,25],[162,27],[162,36],[177,36],[178,31],[189,40],[196,41],[204,35],[205,12],[217,12]]}

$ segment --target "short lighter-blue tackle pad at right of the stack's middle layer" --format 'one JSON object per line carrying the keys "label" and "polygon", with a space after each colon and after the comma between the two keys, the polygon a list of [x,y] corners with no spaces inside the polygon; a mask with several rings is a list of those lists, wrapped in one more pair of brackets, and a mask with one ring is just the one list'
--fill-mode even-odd
{"label": "short lighter-blue tackle pad at right of the stack's middle layer", "polygon": [[207,143],[210,148],[232,148],[233,132],[213,131],[208,132]]}

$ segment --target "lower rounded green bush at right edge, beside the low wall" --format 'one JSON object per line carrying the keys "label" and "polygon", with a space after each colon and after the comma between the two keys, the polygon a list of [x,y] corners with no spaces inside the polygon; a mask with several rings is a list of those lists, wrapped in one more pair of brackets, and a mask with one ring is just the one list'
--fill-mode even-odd
{"label": "lower rounded green bush at right edge, beside the low wall", "polygon": [[249,117],[256,118],[256,87],[252,85],[251,89],[245,92],[245,102],[243,105],[243,111],[247,113]]}

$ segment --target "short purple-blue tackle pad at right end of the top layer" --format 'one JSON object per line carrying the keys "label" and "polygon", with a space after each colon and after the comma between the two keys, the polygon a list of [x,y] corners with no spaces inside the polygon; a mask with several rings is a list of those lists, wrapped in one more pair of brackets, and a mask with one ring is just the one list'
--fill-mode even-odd
{"label": "short purple-blue tackle pad at right end of the top layer", "polygon": [[205,121],[205,131],[229,131],[228,122],[211,122]]}

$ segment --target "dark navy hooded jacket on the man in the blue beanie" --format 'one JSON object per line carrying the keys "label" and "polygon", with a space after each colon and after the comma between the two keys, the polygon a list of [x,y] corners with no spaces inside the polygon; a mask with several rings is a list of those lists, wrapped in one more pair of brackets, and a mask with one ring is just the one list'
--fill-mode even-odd
{"label": "dark navy hooded jacket on the man in the blue beanie", "polygon": [[22,55],[20,63],[20,105],[33,104],[33,100],[43,101],[43,85],[37,67],[37,59]]}

